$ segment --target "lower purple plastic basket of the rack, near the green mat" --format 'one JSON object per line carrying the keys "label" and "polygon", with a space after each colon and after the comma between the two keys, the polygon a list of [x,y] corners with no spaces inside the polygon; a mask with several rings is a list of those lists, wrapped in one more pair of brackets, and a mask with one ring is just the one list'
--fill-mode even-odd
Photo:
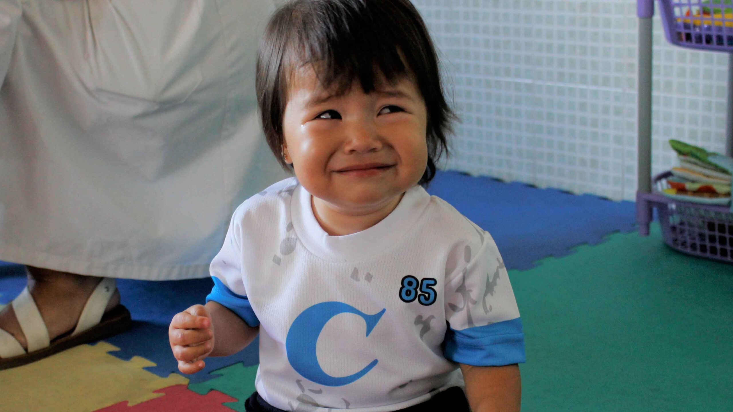
{"label": "lower purple plastic basket of the rack, near the green mat", "polygon": [[[658,191],[670,172],[654,178]],[[662,238],[672,249],[698,257],[733,263],[733,213],[728,206],[679,202],[659,193],[636,194],[636,221],[641,235],[649,234],[657,208]]]}

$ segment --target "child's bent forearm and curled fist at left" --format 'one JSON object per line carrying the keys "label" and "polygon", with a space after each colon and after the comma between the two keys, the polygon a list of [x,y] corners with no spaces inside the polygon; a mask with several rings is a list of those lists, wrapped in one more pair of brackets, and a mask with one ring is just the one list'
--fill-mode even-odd
{"label": "child's bent forearm and curled fist at left", "polygon": [[[235,312],[214,301],[194,305],[173,317],[168,329],[173,355],[183,373],[205,367],[207,356],[228,356],[243,350],[257,336]],[[216,339],[215,339],[216,338]]]}

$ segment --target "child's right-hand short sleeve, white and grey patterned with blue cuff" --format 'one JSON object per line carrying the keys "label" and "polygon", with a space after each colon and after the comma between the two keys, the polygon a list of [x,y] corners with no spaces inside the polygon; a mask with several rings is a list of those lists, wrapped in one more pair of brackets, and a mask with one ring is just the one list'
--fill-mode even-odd
{"label": "child's right-hand short sleeve, white and grey patterned with blue cuff", "polygon": [[449,257],[463,268],[457,265],[446,279],[444,355],[474,366],[524,363],[522,320],[507,269],[491,236],[481,235],[480,246],[466,243],[452,252],[460,256]]}

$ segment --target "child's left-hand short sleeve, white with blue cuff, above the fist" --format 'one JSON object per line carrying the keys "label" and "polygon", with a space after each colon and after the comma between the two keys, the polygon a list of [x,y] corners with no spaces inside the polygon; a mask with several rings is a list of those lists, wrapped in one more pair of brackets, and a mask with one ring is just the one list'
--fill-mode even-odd
{"label": "child's left-hand short sleeve, white with blue cuff, above the fist", "polygon": [[214,281],[214,287],[206,297],[206,301],[214,301],[225,306],[241,317],[247,325],[254,328],[259,325],[259,320],[249,303],[242,278],[242,250],[239,242],[240,227],[237,224],[239,221],[237,215],[238,213],[235,212],[232,223],[229,224],[229,229],[226,231],[224,245],[211,261],[209,271]]}

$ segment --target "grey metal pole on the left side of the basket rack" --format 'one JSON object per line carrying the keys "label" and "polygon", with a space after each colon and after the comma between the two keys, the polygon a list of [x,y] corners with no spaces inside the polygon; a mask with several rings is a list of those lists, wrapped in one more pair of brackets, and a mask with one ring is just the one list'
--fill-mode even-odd
{"label": "grey metal pole on the left side of the basket rack", "polygon": [[638,191],[652,191],[652,18],[639,18]]}

